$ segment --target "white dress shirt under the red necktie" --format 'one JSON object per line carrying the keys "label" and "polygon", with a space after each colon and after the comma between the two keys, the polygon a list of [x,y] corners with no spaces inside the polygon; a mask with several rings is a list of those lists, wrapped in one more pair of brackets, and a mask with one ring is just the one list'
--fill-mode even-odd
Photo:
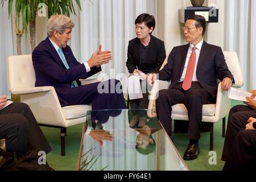
{"label": "white dress shirt under the red necktie", "polygon": [[185,78],[185,75],[186,75],[186,72],[187,72],[188,61],[189,61],[189,58],[191,56],[193,47],[196,47],[196,65],[195,65],[195,70],[194,70],[194,73],[193,73],[192,81],[198,81],[197,77],[196,77],[196,68],[197,68],[197,63],[198,63],[198,60],[199,60],[199,56],[200,56],[200,52],[201,52],[201,48],[203,46],[203,43],[204,43],[204,39],[202,39],[201,42],[198,43],[196,46],[193,46],[193,44],[189,44],[187,59],[185,61],[185,66],[184,66],[183,73],[182,73],[182,76],[181,76],[179,82],[184,81],[184,78]]}

